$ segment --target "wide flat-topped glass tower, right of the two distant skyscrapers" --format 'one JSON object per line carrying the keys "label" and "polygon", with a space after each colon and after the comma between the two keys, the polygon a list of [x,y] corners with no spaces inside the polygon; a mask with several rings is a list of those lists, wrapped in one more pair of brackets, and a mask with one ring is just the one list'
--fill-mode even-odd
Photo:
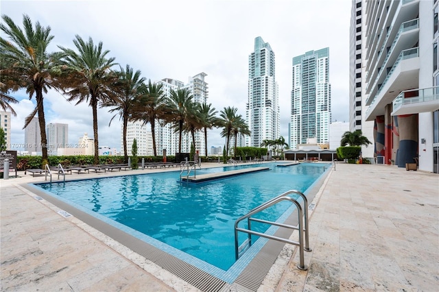
{"label": "wide flat-topped glass tower, right of the two distant skyscrapers", "polygon": [[290,148],[307,143],[308,138],[316,138],[318,144],[329,143],[329,48],[294,57],[292,76]]}

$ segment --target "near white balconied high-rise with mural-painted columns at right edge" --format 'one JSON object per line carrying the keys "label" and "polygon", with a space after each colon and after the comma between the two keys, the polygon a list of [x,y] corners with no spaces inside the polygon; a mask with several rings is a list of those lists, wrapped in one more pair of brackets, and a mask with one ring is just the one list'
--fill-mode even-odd
{"label": "near white balconied high-rise with mural-painted columns at right edge", "polygon": [[439,1],[366,1],[365,119],[377,162],[439,166]]}

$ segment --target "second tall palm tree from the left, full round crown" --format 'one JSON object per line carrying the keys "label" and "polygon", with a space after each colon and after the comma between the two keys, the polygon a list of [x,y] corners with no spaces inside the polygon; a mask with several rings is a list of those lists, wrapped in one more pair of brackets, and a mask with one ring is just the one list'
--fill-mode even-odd
{"label": "second tall palm tree from the left, full round crown", "polygon": [[[110,52],[102,50],[102,42],[95,45],[91,38],[85,42],[76,35],[73,44],[78,53],[72,49],[58,46],[67,65],[68,77],[64,84],[64,93],[69,101],[78,100],[76,104],[88,102],[93,111],[93,132],[95,139],[95,165],[99,163],[99,140],[97,136],[97,106],[103,101],[114,99],[112,84],[117,82],[117,74],[111,71],[115,58],[106,58]],[[65,90],[67,89],[67,90]]]}

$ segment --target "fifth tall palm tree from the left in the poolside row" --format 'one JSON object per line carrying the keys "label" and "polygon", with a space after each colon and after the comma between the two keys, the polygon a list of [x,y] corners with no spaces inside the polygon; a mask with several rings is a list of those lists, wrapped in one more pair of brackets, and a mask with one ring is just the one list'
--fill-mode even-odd
{"label": "fifth tall palm tree from the left in the poolside row", "polygon": [[168,99],[170,112],[167,114],[167,121],[174,123],[174,127],[178,130],[178,153],[181,153],[183,126],[185,125],[185,121],[187,121],[187,113],[193,103],[192,99],[193,95],[191,95],[187,88],[171,89]]}

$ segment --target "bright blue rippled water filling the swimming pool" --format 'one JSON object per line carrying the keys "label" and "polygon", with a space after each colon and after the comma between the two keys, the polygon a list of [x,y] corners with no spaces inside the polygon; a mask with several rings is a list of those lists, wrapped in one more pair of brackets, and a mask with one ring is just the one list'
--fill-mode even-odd
{"label": "bright blue rippled water filling the swimming pool", "polygon": [[[270,170],[202,184],[180,184],[180,171],[172,171],[36,185],[227,270],[235,263],[236,219],[285,191],[305,192],[324,173],[325,165],[216,167],[197,170],[197,174],[261,166]],[[275,205],[259,217],[276,221],[290,206],[287,202]],[[253,223],[252,228],[263,231],[266,227]],[[241,243],[246,234],[240,236]]]}

